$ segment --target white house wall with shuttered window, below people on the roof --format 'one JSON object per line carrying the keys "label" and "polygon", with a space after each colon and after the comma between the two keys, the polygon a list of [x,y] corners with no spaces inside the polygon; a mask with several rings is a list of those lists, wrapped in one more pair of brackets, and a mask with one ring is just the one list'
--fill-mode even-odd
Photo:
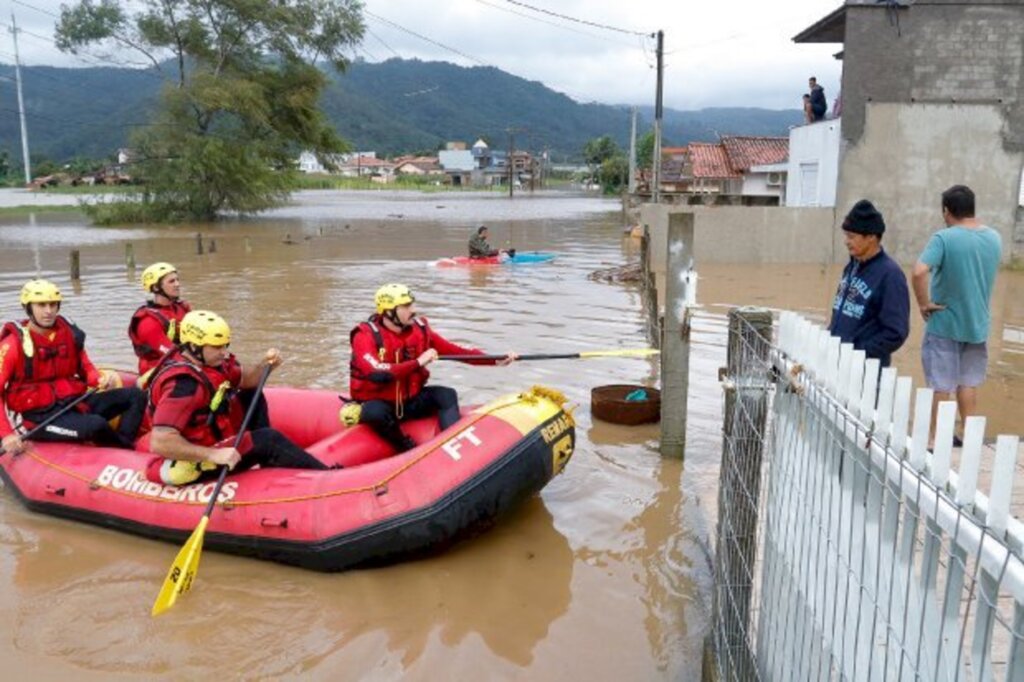
{"label": "white house wall with shuttered window, below people on the roof", "polygon": [[828,119],[790,130],[786,206],[836,206],[842,120]]}

